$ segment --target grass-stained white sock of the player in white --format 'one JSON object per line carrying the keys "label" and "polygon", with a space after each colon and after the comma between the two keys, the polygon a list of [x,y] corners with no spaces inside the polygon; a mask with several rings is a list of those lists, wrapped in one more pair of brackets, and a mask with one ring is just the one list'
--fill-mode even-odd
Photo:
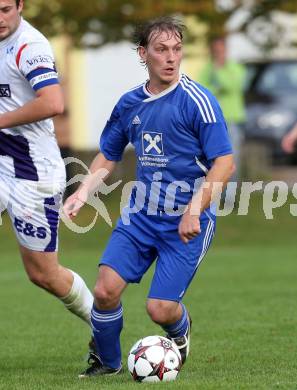
{"label": "grass-stained white sock of the player in white", "polygon": [[62,297],[60,300],[69,311],[91,326],[91,310],[94,297],[83,279],[77,273],[69,271],[73,275],[73,284],[66,297]]}

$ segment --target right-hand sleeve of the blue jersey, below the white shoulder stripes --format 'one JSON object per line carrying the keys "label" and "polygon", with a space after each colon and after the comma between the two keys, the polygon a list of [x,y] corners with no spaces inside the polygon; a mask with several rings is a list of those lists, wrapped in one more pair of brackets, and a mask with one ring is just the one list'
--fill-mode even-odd
{"label": "right-hand sleeve of the blue jersey, below the white shoulder stripes", "polygon": [[205,122],[198,113],[195,128],[198,129],[198,137],[205,157],[208,161],[212,161],[233,152],[222,110],[213,96],[209,97],[209,101],[214,113],[212,120]]}

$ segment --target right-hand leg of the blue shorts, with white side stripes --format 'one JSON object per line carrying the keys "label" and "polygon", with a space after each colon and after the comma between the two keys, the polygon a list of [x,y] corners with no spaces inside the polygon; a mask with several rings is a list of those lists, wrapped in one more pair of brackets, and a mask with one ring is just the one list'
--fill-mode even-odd
{"label": "right-hand leg of the blue shorts, with white side stripes", "polygon": [[215,223],[211,219],[201,222],[201,233],[183,243],[173,234],[164,236],[149,291],[149,298],[179,302],[182,300],[214,235]]}

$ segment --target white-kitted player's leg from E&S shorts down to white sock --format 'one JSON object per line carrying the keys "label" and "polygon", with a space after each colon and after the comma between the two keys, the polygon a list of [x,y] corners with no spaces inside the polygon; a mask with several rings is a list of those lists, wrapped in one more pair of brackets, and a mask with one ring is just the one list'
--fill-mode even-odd
{"label": "white-kitted player's leg from E&S shorts down to white sock", "polygon": [[60,298],[67,309],[90,324],[93,305],[91,292],[79,275],[58,263],[59,208],[63,183],[58,182],[54,187],[13,179],[9,216],[30,280]]}

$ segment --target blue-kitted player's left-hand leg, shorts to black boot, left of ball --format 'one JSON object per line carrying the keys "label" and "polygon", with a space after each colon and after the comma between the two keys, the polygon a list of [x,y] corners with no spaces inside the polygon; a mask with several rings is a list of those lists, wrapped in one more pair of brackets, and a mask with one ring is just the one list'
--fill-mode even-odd
{"label": "blue-kitted player's left-hand leg, shorts to black boot, left of ball", "polygon": [[135,238],[136,230],[135,226],[117,227],[102,256],[92,310],[98,359],[95,357],[80,377],[114,374],[121,368],[123,310],[120,298],[127,284],[138,283],[156,257],[147,243]]}

